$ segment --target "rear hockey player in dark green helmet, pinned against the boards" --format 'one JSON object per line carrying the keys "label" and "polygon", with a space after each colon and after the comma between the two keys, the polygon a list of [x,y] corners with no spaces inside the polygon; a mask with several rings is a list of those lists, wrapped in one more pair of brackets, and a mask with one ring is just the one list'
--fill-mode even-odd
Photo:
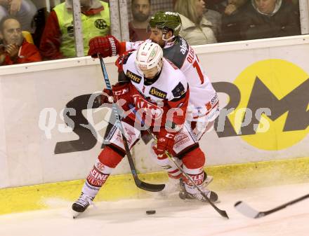
{"label": "rear hockey player in dark green helmet, pinned against the boards", "polygon": [[[150,39],[146,41],[158,43],[163,49],[164,57],[173,62],[187,78],[190,85],[187,120],[191,121],[191,128],[198,146],[199,139],[213,127],[218,117],[218,96],[194,50],[183,37],[178,35],[180,27],[181,20],[178,13],[157,12],[150,18],[151,34]],[[119,42],[114,36],[98,36],[89,41],[88,55],[92,57],[96,57],[97,53],[103,57],[121,55],[127,50],[138,49],[141,43],[143,41]],[[107,90],[104,92],[108,93]],[[103,98],[103,102],[107,102],[107,98]],[[188,144],[190,145],[192,144]],[[169,172],[169,177],[179,179],[182,176],[180,172]],[[212,177],[208,176],[206,182],[209,183],[211,180]],[[190,198],[190,195],[180,192],[180,197]]]}

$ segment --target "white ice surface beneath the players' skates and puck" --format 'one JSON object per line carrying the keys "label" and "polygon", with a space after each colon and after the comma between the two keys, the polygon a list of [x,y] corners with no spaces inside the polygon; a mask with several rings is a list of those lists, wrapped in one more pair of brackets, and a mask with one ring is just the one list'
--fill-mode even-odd
{"label": "white ice surface beneath the players' skates and puck", "polygon": [[[308,236],[309,199],[258,219],[233,207],[244,200],[265,211],[309,193],[309,183],[219,192],[222,218],[209,204],[183,202],[176,196],[145,200],[99,202],[73,219],[71,202],[49,199],[58,209],[0,216],[1,236]],[[78,197],[78,196],[77,196]],[[156,214],[147,215],[146,210]]]}

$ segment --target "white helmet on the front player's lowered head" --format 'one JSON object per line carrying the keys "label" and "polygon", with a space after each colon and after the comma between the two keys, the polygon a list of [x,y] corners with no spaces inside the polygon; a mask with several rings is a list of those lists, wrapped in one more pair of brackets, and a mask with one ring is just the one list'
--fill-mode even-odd
{"label": "white helmet on the front player's lowered head", "polygon": [[136,67],[140,70],[149,70],[157,67],[162,69],[163,50],[157,43],[144,42],[140,44],[136,54]]}

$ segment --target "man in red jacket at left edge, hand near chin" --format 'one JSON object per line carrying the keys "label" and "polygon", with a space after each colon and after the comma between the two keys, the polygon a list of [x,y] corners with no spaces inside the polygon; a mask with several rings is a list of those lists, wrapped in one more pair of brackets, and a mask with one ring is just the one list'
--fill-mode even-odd
{"label": "man in red jacket at left edge, hand near chin", "polygon": [[37,47],[22,36],[20,22],[16,18],[8,16],[1,20],[0,38],[3,41],[0,46],[0,65],[41,61]]}

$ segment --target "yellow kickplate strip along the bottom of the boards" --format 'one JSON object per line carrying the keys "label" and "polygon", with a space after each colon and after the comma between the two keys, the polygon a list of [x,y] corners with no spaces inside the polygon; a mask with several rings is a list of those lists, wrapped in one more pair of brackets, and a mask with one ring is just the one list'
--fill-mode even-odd
{"label": "yellow kickplate strip along the bottom of the boards", "polygon": [[[215,176],[209,187],[216,191],[309,183],[309,158],[220,165],[207,167],[206,172]],[[168,178],[165,172],[139,174],[139,177],[148,183],[166,183]],[[0,215],[59,207],[70,209],[72,202],[79,196],[83,184],[84,179],[81,179],[0,189]],[[107,179],[95,202],[150,197],[159,197],[159,193],[140,190],[136,187],[131,174],[119,174]]]}

